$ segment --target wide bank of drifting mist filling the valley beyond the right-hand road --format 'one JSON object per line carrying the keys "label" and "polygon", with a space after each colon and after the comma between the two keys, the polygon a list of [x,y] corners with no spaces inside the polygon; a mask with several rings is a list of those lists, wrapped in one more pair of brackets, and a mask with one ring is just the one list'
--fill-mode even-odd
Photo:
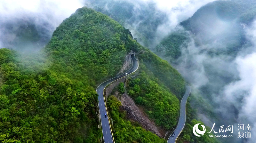
{"label": "wide bank of drifting mist filling the valley beyond the right-hand road", "polygon": [[[217,34],[219,38],[211,34],[215,29],[218,30],[214,27],[208,31],[202,28],[204,34],[191,34],[187,47],[181,47],[182,55],[175,67],[192,83],[194,91],[199,89],[202,96],[211,103],[212,110],[219,115],[220,120],[214,121],[210,118],[212,122],[233,124],[234,131],[237,131],[238,124],[256,124],[256,21],[251,25],[241,25],[244,28],[245,42],[251,46],[244,45],[237,54],[226,54],[223,51],[228,50],[230,42],[220,38],[236,39],[231,33],[239,31],[239,26],[232,26],[220,29]],[[208,41],[195,45],[194,38]],[[220,50],[223,53],[209,54],[209,51]],[[207,118],[200,120],[210,123]],[[256,133],[251,132],[251,139],[233,141],[253,143]]]}

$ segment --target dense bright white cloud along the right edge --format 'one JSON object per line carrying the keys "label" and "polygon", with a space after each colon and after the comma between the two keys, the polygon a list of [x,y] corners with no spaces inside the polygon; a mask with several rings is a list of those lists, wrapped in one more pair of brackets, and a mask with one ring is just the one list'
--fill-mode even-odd
{"label": "dense bright white cloud along the right edge", "polygon": [[[256,124],[256,21],[252,26],[246,28],[247,38],[252,46],[241,51],[235,59],[236,69],[239,72],[239,80],[225,86],[223,90],[224,102],[232,104],[238,109],[237,122],[240,124]],[[252,127],[252,128],[253,128]],[[254,143],[256,133],[252,132],[252,139],[248,142]]]}

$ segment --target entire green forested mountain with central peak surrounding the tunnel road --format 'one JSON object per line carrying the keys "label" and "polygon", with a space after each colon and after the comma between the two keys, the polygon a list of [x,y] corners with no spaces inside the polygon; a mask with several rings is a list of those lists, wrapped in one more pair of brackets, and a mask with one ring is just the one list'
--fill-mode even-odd
{"label": "entire green forested mountain with central peak surrounding the tunnel road", "polygon": [[[128,29],[84,7],[56,28],[42,51],[43,56],[23,58],[13,50],[0,49],[0,141],[100,142],[95,89],[118,73],[131,50],[138,54],[142,66],[138,78],[143,82],[141,87],[138,79],[130,84],[132,95],[136,97],[140,90],[147,92],[145,97],[140,95],[144,103],[152,102],[145,112],[159,126],[173,128],[179,115],[177,97],[181,99],[185,87],[181,75],[133,40]],[[161,101],[163,98],[168,100]],[[164,106],[154,108],[163,102]],[[140,129],[117,126],[115,131],[125,129],[140,136],[130,136],[125,142],[143,142],[149,136],[163,141],[137,128]]]}

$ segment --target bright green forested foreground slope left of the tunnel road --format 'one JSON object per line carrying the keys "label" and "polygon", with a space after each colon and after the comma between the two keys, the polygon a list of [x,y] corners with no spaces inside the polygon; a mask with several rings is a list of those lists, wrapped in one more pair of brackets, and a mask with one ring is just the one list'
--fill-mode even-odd
{"label": "bright green forested foreground slope left of the tunnel road", "polygon": [[99,140],[93,88],[78,90],[75,79],[50,68],[28,70],[18,53],[0,50],[1,142]]}

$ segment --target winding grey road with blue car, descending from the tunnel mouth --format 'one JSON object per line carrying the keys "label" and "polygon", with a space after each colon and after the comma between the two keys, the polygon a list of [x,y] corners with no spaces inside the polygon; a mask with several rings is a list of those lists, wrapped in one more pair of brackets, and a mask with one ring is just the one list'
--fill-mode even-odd
{"label": "winding grey road with blue car, descending from the tunnel mouth", "polygon": [[[133,72],[135,72],[139,68],[139,62],[134,57],[134,54],[131,54],[131,58],[132,58],[132,68],[130,68],[128,71],[126,71],[125,73],[123,73],[121,75],[118,75],[118,76],[116,76],[112,79],[109,79],[108,81],[105,81],[105,82],[101,83],[96,89],[96,91],[99,95],[98,96],[98,101],[99,101],[98,106],[99,106],[99,109],[100,109],[100,121],[101,121],[104,143],[114,143],[114,139],[113,139],[113,135],[112,135],[109,119],[108,119],[106,102],[105,102],[105,99],[104,99],[104,89],[109,83],[112,83],[113,81],[115,81],[119,78],[122,78],[126,75],[132,74]],[[105,117],[105,113],[107,114],[107,117]]]}

